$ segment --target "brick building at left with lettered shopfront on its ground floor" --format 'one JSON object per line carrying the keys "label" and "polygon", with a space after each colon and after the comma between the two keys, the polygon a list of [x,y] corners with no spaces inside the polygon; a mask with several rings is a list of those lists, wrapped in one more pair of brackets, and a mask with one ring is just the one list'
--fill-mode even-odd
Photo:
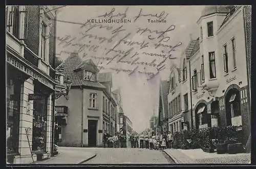
{"label": "brick building at left with lettered shopfront on its ground floor", "polygon": [[[52,153],[56,6],[6,6],[7,161]],[[50,36],[52,35],[52,36]],[[49,37],[49,38],[47,38]]]}

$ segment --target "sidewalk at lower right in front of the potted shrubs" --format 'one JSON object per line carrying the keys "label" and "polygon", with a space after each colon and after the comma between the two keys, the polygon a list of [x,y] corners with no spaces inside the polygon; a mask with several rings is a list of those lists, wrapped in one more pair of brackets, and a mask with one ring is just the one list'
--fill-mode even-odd
{"label": "sidewalk at lower right in front of the potted shrubs", "polygon": [[217,152],[206,153],[202,149],[165,149],[163,151],[176,163],[248,164],[251,160],[250,153],[217,154]]}

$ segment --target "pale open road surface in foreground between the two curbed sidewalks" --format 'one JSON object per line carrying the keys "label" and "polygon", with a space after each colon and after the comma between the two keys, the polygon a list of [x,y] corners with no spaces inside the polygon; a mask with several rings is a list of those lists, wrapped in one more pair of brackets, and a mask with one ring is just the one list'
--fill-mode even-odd
{"label": "pale open road surface in foreground between the two curbed sidewalks", "polygon": [[86,151],[95,152],[97,155],[84,164],[174,163],[164,152],[158,150],[137,148],[86,148]]}

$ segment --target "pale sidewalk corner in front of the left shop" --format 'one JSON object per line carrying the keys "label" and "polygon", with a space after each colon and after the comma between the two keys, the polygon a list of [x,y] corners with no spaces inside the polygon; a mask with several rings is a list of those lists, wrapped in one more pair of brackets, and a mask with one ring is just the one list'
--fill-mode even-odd
{"label": "pale sidewalk corner in front of the left shop", "polygon": [[58,155],[44,161],[35,161],[35,164],[79,164],[96,156],[95,153],[86,150],[74,151],[72,148],[65,147],[58,147],[58,152]]}

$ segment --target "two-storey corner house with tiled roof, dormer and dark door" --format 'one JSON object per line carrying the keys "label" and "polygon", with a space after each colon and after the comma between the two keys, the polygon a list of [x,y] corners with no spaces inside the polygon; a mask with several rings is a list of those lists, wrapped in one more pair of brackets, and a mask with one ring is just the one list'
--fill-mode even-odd
{"label": "two-storey corner house with tiled roof, dormer and dark door", "polygon": [[56,99],[55,121],[61,128],[58,144],[75,147],[102,147],[104,132],[115,129],[116,102],[111,96],[112,76],[99,73],[91,59],[72,53],[56,70],[72,81],[68,99]]}

